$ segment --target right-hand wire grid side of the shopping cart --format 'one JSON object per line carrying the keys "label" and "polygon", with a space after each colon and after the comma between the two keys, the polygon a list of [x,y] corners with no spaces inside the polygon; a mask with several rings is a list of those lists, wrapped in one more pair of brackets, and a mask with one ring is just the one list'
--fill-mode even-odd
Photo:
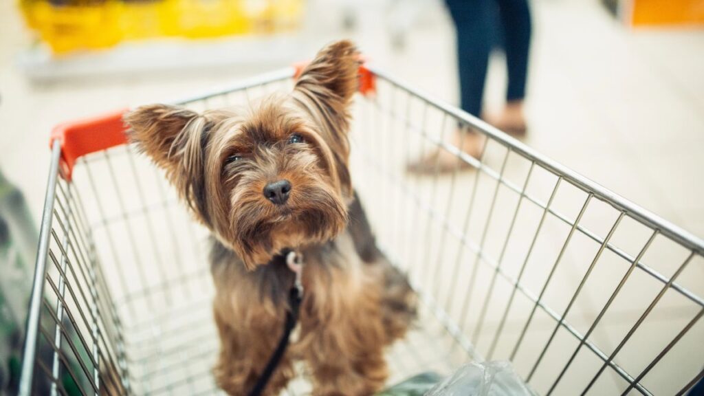
{"label": "right-hand wire grid side of the shopping cart", "polygon": [[[479,158],[447,143],[458,128],[485,137]],[[702,242],[494,131],[377,75],[353,175],[386,252],[456,345],[539,394],[686,392],[704,375]],[[406,173],[437,149],[451,175]]]}

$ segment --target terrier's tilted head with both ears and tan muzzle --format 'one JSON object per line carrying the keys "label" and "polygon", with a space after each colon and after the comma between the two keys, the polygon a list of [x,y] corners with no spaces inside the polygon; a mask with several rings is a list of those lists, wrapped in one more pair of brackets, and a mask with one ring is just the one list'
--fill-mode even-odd
{"label": "terrier's tilted head with both ears and tan muzzle", "polygon": [[125,123],[196,218],[253,269],[285,247],[344,230],[352,194],[348,106],[358,68],[353,44],[335,42],[293,92],[249,114],[156,104],[131,111]]}

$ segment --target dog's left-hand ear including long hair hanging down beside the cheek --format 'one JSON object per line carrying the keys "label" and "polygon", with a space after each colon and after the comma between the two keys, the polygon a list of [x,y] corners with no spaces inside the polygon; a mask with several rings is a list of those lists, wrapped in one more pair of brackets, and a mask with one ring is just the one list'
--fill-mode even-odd
{"label": "dog's left-hand ear including long hair hanging down beside the cheek", "polygon": [[130,141],[165,169],[181,197],[208,225],[203,175],[210,127],[206,117],[180,106],[153,104],[130,111],[124,121]]}

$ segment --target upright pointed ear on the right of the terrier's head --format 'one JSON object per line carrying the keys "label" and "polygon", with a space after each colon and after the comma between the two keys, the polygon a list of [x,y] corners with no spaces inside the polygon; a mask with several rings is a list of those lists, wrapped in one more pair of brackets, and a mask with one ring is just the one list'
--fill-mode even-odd
{"label": "upright pointed ear on the right of the terrier's head", "polygon": [[347,40],[329,44],[303,69],[294,87],[293,98],[310,114],[323,140],[337,162],[343,193],[351,197],[348,171],[349,105],[359,85],[360,54]]}

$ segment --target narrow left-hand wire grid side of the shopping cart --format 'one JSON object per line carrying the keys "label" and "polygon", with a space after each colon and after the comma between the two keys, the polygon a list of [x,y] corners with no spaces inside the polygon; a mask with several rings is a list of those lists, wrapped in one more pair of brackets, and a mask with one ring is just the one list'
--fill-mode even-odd
{"label": "narrow left-hand wire grid side of the shopping cart", "polygon": [[[129,390],[122,323],[73,184],[56,184],[34,357],[37,395]],[[26,359],[27,357],[25,357]]]}

